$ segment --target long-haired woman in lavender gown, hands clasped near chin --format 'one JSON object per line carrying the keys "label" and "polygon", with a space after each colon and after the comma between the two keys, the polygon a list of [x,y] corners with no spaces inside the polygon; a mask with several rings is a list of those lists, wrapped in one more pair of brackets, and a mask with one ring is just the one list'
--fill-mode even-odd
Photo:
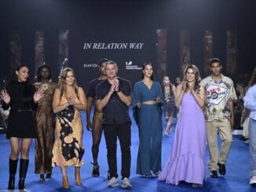
{"label": "long-haired woman in lavender gown, hands clasped near chin", "polygon": [[199,70],[195,65],[185,67],[184,77],[175,98],[180,115],[174,143],[159,180],[175,185],[185,181],[199,187],[205,177],[206,123],[202,109],[205,90],[199,85]]}

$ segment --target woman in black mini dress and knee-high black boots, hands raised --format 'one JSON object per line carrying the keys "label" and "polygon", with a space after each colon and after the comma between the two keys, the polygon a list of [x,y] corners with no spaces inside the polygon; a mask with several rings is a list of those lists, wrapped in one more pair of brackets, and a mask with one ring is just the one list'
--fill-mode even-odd
{"label": "woman in black mini dress and knee-high black boots, hands raised", "polygon": [[11,147],[9,157],[9,190],[14,189],[19,153],[19,189],[24,190],[25,188],[24,181],[27,175],[31,138],[36,137],[35,117],[32,112],[36,109],[38,100],[43,96],[41,90],[35,92],[35,87],[27,82],[28,71],[28,67],[25,64],[19,64],[6,89],[1,91],[3,109],[11,108],[6,132],[6,138],[9,139]]}

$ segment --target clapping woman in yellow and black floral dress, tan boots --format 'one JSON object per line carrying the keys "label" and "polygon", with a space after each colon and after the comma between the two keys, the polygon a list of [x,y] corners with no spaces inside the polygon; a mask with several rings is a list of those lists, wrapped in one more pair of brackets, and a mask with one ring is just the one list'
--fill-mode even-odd
{"label": "clapping woman in yellow and black floral dress, tan boots", "polygon": [[57,114],[52,166],[60,166],[63,187],[69,188],[67,167],[75,166],[75,183],[82,185],[80,166],[82,146],[82,121],[79,110],[86,110],[86,95],[76,85],[74,71],[66,67],[60,74],[58,88],[53,95],[53,112]]}

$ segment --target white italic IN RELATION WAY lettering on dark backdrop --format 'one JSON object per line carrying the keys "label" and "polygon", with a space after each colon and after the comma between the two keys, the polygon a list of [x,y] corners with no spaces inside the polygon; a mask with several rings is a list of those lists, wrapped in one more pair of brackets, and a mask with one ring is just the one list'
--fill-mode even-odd
{"label": "white italic IN RELATION WAY lettering on dark backdrop", "polygon": [[143,49],[144,42],[85,42],[83,44],[83,49],[109,49],[109,50],[115,50],[115,49]]}

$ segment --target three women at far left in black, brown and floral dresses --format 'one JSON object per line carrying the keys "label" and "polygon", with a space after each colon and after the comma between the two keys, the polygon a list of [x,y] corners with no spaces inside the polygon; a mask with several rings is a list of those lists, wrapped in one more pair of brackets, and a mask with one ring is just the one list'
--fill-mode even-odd
{"label": "three women at far left in black, brown and floral dresses", "polygon": [[[29,163],[31,139],[35,144],[35,173],[40,181],[51,178],[52,167],[60,166],[63,187],[68,188],[67,167],[75,166],[75,182],[82,185],[82,120],[80,110],[86,110],[86,95],[76,84],[74,71],[67,67],[60,74],[58,85],[51,82],[50,67],[38,68],[35,85],[27,81],[29,69],[19,64],[8,85],[1,91],[2,107],[10,108],[6,137],[9,139],[8,189],[15,188],[17,163],[20,156],[19,190]],[[56,115],[57,114],[57,115]],[[22,123],[21,123],[22,122]]]}

